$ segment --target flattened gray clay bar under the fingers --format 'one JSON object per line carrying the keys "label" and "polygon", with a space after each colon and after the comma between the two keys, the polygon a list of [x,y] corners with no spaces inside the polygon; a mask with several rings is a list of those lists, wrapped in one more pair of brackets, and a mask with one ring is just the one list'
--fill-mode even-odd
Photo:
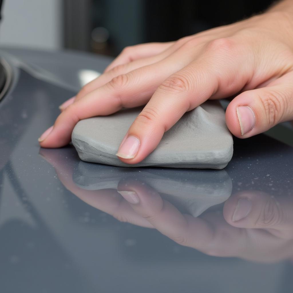
{"label": "flattened gray clay bar under the fingers", "polygon": [[83,161],[113,166],[160,166],[222,169],[233,154],[232,135],[218,101],[207,101],[168,130],[158,147],[142,162],[129,165],[115,155],[141,108],[81,120],[72,132],[72,143]]}

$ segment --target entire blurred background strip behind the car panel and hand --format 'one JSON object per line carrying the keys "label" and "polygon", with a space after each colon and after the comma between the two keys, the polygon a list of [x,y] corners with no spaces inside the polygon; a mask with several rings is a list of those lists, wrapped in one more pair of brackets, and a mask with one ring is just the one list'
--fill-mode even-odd
{"label": "entire blurred background strip behind the car panel and hand", "polygon": [[4,0],[0,45],[116,56],[241,20],[270,0]]}

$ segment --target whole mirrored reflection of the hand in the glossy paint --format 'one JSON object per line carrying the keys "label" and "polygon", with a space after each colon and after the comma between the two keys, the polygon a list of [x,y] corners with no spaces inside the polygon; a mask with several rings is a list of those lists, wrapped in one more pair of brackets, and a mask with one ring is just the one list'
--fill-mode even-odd
{"label": "whole mirrored reflection of the hand in the glossy paint", "polygon": [[72,166],[62,162],[64,157],[54,157],[54,152],[52,156],[42,155],[54,166],[68,190],[119,221],[155,228],[173,241],[208,255],[259,262],[293,258],[293,198],[290,196],[275,198],[259,191],[242,191],[228,195],[223,212],[209,208],[194,217],[186,209],[182,212],[166,194],[159,193],[145,180],[122,178],[116,189],[81,188],[72,179]]}

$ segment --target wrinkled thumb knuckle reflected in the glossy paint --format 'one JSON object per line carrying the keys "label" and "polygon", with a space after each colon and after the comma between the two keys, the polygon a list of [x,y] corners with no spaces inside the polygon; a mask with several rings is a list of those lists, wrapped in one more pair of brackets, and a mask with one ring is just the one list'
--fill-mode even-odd
{"label": "wrinkled thumb knuckle reflected in the glossy paint", "polygon": [[263,205],[263,209],[256,221],[256,226],[271,227],[280,224],[283,220],[283,212],[274,198],[270,198]]}

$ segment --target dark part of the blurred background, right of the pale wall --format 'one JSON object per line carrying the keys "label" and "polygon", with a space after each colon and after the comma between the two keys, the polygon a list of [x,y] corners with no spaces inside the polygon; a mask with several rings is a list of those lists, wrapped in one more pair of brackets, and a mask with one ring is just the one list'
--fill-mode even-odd
{"label": "dark part of the blurred background, right of the pale wall", "polygon": [[64,47],[116,56],[124,47],[177,40],[267,9],[271,0],[64,0]]}

